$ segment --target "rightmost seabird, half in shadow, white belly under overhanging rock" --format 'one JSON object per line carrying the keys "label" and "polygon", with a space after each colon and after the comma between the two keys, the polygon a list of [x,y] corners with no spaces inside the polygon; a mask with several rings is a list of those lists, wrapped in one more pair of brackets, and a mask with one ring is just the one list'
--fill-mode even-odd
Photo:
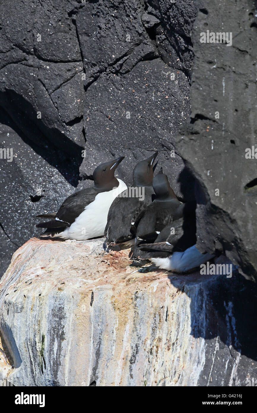
{"label": "rightmost seabird, half in shadow, white belly under overhanging rock", "polygon": [[[196,203],[186,202],[177,208],[174,221],[160,232],[153,244],[139,246],[140,259],[149,259],[157,267],[186,273],[214,258],[196,248]],[[168,233],[168,236],[167,236]]]}

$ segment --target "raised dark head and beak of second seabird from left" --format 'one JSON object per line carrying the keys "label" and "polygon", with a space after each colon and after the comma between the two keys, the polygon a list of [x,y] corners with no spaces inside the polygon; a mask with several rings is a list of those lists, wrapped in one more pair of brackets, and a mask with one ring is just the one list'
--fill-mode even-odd
{"label": "raised dark head and beak of second seabird from left", "polygon": [[[138,162],[133,170],[133,184],[135,186],[151,186],[153,182],[153,163],[158,155],[155,152],[152,156],[144,161]],[[156,166],[156,165],[155,165]]]}

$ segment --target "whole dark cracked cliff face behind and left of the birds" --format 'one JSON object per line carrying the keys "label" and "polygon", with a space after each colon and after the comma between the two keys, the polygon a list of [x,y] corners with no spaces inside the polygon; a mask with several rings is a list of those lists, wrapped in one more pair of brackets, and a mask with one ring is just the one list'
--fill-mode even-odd
{"label": "whole dark cracked cliff face behind and left of the birds", "polygon": [[33,216],[91,185],[103,160],[126,155],[117,174],[131,184],[158,150],[176,194],[194,197],[176,142],[190,114],[192,2],[19,0],[0,16],[0,144],[14,153],[0,160],[2,272],[39,234]]}

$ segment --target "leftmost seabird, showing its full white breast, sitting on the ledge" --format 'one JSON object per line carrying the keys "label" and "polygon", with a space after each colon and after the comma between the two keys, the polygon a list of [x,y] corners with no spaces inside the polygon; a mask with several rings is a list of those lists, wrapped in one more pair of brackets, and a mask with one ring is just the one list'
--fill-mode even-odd
{"label": "leftmost seabird, showing its full white breast, sitting on the ledge", "polygon": [[[52,236],[71,240],[88,240],[104,235],[109,208],[116,196],[123,192],[127,185],[115,178],[114,171],[125,157],[97,166],[93,173],[94,186],[85,188],[70,195],[62,203],[52,221],[36,225],[47,228]],[[42,217],[42,216],[39,216]]]}

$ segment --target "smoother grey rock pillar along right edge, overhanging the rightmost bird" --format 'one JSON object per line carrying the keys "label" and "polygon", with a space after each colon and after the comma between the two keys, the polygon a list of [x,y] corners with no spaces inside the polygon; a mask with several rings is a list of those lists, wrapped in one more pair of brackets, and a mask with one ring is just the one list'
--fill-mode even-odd
{"label": "smoother grey rock pillar along right edge, overhanging the rightmost bird", "polygon": [[[197,245],[202,252],[225,252],[256,280],[257,159],[245,158],[246,148],[257,148],[256,4],[195,4],[192,113],[178,148],[199,183]],[[207,30],[231,32],[232,45],[200,43]]]}

